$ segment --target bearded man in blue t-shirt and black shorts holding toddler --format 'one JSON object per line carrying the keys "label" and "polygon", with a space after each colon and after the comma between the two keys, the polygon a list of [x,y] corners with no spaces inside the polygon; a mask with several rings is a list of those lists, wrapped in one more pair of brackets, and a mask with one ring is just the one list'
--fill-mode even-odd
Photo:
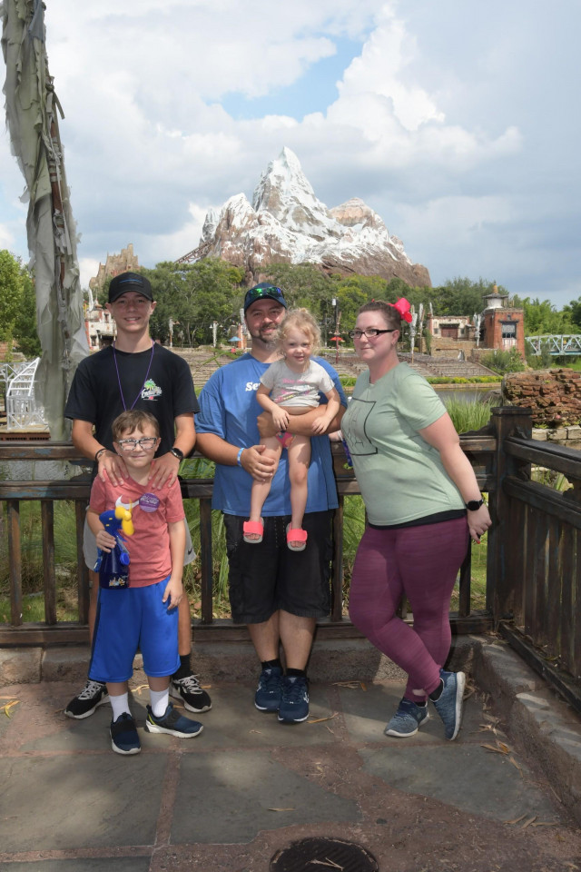
{"label": "bearded man in blue t-shirt and black shorts holding toddler", "polygon": [[[251,352],[214,372],[204,385],[196,428],[198,450],[216,462],[212,507],[224,515],[232,619],[247,624],[261,660],[254,704],[261,711],[277,712],[282,723],[298,723],[309,717],[306,668],[315,623],[330,610],[331,511],[337,507],[337,491],[329,439],[314,436],[311,430],[322,410],[292,415],[288,431],[310,436],[312,455],[303,522],[309,534],[307,545],[305,550],[289,550],[286,527],[291,520],[291,496],[286,451],[272,478],[275,464],[263,454],[261,431],[262,436],[274,435],[277,428],[256,400],[261,375],[280,358],[274,340],[286,309],[281,289],[267,282],[246,293],[244,318],[251,334]],[[340,393],[342,408],[329,428],[338,430],[347,404],[345,395],[330,364],[322,358],[317,361]],[[321,397],[321,402],[326,398]],[[262,540],[249,544],[244,541],[242,525],[249,516],[252,479],[271,478],[262,510]]]}

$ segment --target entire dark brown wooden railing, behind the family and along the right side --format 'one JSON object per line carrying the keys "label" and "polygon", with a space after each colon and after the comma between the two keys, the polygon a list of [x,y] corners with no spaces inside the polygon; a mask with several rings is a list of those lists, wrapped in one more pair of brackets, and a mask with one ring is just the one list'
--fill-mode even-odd
{"label": "entire dark brown wooden railing, behind the family and along the right side", "polygon": [[[461,437],[463,450],[487,493],[493,526],[488,532],[485,609],[474,609],[470,590],[470,550],[459,581],[458,610],[450,614],[455,633],[498,629],[527,661],[551,680],[581,711],[577,677],[581,675],[581,452],[532,441],[528,410],[496,409],[478,433]],[[0,442],[0,469],[8,461],[79,461],[70,444]],[[320,621],[325,636],[358,636],[343,614],[343,517],[345,498],[359,493],[352,471],[345,469],[340,443],[333,461],[340,506],[333,523],[331,615]],[[562,473],[573,488],[565,493],[531,480],[531,467]],[[421,487],[421,482],[418,482]],[[248,638],[231,620],[212,618],[212,480],[182,482],[185,500],[198,500],[201,531],[201,618],[194,621],[197,639]],[[88,477],[69,481],[0,481],[9,550],[11,620],[0,625],[0,647],[86,642],[88,575],[82,553]],[[386,490],[389,498],[389,490]],[[40,500],[42,516],[44,622],[23,622],[20,508]],[[78,620],[56,618],[54,570],[54,502],[73,500],[78,562]]]}

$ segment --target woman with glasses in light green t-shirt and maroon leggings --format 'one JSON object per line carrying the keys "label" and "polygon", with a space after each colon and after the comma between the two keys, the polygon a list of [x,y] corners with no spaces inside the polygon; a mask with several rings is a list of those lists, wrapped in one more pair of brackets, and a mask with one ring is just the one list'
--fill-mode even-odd
{"label": "woman with glasses in light green t-shirt and maroon leggings", "polygon": [[[469,537],[479,542],[490,517],[445,406],[428,382],[400,363],[401,320],[409,302],[374,301],[352,332],[367,363],[341,422],[369,525],[350,587],[350,618],[408,673],[387,736],[409,738],[428,721],[428,700],[458,736],[465,675],[443,669],[451,633],[449,603]],[[397,615],[409,599],[413,628]]]}

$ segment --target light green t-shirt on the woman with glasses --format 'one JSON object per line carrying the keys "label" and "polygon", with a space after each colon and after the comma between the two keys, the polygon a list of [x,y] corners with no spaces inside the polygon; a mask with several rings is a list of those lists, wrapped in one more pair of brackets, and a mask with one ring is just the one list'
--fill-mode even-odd
{"label": "light green t-shirt on the woman with glasses", "polygon": [[353,469],[372,524],[403,524],[441,511],[464,509],[437,449],[419,430],[446,408],[405,363],[369,384],[363,372],[341,421]]}

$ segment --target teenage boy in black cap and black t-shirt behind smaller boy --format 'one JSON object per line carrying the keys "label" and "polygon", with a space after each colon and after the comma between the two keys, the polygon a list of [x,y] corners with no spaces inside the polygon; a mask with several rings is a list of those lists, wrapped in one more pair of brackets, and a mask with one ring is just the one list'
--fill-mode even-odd
{"label": "teenage boy in black cap and black t-shirt behind smaller boy", "polygon": [[[117,327],[113,345],[84,358],[74,374],[64,416],[73,419],[74,446],[94,461],[94,476],[113,485],[123,484],[127,471],[123,459],[113,451],[111,424],[122,411],[149,411],[160,426],[161,442],[153,460],[149,486],[154,494],[163,484],[171,484],[180,462],[195,442],[194,412],[198,410],[192,374],[188,364],[153,342],[149,322],[155,309],[152,286],[139,272],[122,272],[109,285],[106,308]],[[185,563],[194,558],[186,523]],[[84,557],[94,569],[96,543],[85,525]],[[92,581],[89,604],[89,633],[93,638],[97,610],[99,577],[90,571]],[[170,691],[180,697],[185,708],[202,712],[212,708],[210,697],[192,675],[192,619],[187,597],[178,606],[178,644],[181,667],[172,676]],[[107,689],[88,680],[81,693],[64,709],[70,718],[88,718],[108,700]]]}

